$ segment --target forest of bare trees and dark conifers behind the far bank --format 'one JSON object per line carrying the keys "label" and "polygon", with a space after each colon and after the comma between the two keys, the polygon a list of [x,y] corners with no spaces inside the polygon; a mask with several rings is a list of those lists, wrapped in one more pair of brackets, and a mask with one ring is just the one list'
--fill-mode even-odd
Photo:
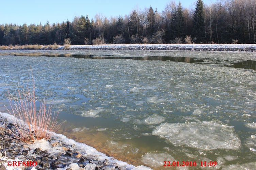
{"label": "forest of bare trees and dark conifers behind the far bank", "polygon": [[195,8],[170,1],[162,12],[148,7],[129,15],[76,16],[73,21],[42,25],[1,24],[0,45],[255,43],[256,0],[217,0]]}

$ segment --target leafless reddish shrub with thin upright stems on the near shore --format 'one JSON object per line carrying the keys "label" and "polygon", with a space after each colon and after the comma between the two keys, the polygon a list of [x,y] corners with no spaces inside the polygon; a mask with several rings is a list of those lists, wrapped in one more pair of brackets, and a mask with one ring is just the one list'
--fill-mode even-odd
{"label": "leafless reddish shrub with thin upright stems on the near shore", "polygon": [[[18,84],[15,97],[9,91],[9,96],[7,96],[17,122],[14,125],[17,131],[11,131],[11,133],[15,138],[26,143],[33,143],[35,139],[40,140],[44,138],[47,140],[60,128],[60,125],[57,125],[57,116],[59,113],[55,116],[54,112],[52,119],[52,104],[50,104],[47,110],[46,99],[43,99],[40,103],[39,110],[36,109],[37,100],[35,97],[33,74],[32,81],[32,88],[29,88],[27,85],[26,89],[24,89]],[[12,100],[14,100],[14,103]]]}

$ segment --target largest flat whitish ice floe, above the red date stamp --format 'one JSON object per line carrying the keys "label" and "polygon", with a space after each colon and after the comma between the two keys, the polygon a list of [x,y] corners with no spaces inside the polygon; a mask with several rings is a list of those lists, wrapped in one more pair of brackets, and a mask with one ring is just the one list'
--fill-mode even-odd
{"label": "largest flat whitish ice floe, above the red date stamp", "polygon": [[153,135],[170,140],[175,146],[186,145],[203,150],[234,149],[241,147],[241,140],[234,128],[220,122],[162,123]]}

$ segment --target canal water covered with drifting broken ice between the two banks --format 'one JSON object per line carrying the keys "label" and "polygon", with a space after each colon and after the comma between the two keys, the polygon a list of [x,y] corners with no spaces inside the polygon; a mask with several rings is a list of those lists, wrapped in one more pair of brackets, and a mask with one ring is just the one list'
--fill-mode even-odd
{"label": "canal water covered with drifting broken ice between the two banks", "polygon": [[255,168],[255,52],[31,52],[0,51],[0,112],[31,65],[36,94],[60,109],[57,133],[153,169]]}

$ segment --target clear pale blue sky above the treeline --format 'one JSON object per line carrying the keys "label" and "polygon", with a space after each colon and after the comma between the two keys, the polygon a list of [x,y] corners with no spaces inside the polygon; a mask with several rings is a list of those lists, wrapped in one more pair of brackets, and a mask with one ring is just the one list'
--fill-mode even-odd
{"label": "clear pale blue sky above the treeline", "polygon": [[[183,7],[190,7],[197,0],[180,0]],[[208,4],[209,0],[204,0]],[[93,18],[96,14],[105,17],[118,17],[129,15],[139,6],[139,9],[149,7],[162,12],[169,0],[0,0],[0,24],[23,23],[45,24],[49,20],[53,22],[73,21],[75,16],[86,16]],[[178,4],[179,0],[175,0]],[[215,2],[215,0],[212,0]]]}

